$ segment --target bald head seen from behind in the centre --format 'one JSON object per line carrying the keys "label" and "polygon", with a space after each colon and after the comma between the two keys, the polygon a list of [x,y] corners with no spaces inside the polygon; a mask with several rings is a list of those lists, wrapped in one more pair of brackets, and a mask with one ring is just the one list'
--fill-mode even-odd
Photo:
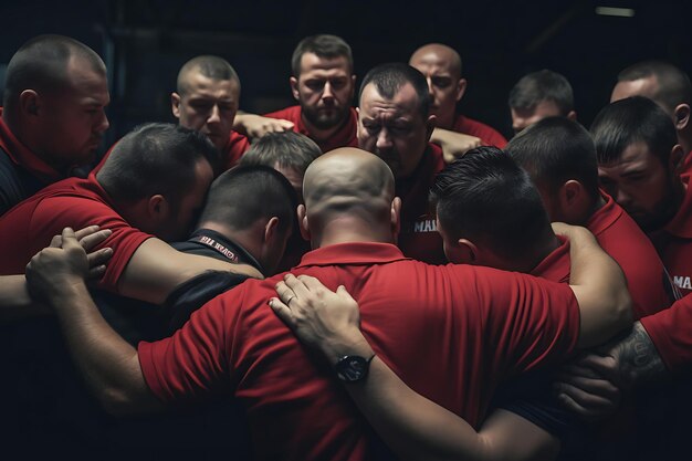
{"label": "bald head seen from behind in the centre", "polygon": [[379,157],[353,147],[313,161],[298,207],[301,232],[313,248],[345,242],[394,243],[401,200],[391,169]]}

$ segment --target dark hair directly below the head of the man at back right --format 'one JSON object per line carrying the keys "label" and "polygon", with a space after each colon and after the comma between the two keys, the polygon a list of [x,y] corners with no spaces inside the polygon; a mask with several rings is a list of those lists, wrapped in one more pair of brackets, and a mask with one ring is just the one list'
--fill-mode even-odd
{"label": "dark hair directly below the head of the man at back right", "polygon": [[546,117],[512,138],[504,150],[551,191],[576,179],[591,197],[598,197],[596,147],[577,122]]}

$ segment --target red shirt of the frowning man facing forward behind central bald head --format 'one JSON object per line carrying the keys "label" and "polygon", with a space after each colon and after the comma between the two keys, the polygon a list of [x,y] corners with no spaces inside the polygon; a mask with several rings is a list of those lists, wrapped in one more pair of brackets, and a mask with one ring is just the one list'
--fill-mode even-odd
{"label": "red shirt of the frowning man facing forward behind central bald head", "polygon": [[429,264],[447,264],[442,238],[428,203],[428,192],[434,177],[444,168],[442,149],[428,144],[416,171],[406,179],[397,179],[396,193],[401,198],[401,230],[398,245],[408,258]]}

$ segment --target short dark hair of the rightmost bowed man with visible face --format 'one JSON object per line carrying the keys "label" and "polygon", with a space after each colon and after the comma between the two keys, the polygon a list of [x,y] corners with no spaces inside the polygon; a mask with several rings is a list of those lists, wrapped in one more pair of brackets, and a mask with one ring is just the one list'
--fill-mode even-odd
{"label": "short dark hair of the rightmost bowed man with visible face", "polygon": [[598,163],[620,159],[635,143],[646,143],[663,165],[678,144],[678,133],[670,115],[648,97],[632,96],[604,107],[591,124]]}

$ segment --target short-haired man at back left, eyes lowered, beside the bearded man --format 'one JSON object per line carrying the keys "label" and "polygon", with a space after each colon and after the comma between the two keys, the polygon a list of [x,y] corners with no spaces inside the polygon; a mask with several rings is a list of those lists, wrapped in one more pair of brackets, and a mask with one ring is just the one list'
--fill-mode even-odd
{"label": "short-haired man at back left, eyes lowered, beside the bearded man", "polygon": [[186,62],[171,93],[172,114],[180,126],[206,134],[221,151],[221,168],[229,169],[250,148],[248,138],[233,132],[240,101],[240,78],[222,57],[202,55]]}

